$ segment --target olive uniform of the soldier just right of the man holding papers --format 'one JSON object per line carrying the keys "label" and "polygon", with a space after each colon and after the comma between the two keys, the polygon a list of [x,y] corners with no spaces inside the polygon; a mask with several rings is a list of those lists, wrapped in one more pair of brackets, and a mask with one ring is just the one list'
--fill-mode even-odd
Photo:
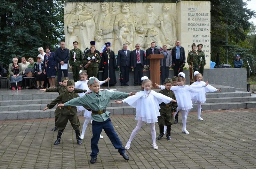
{"label": "olive uniform of the soldier just right of the man holding papers", "polygon": [[[74,62],[74,52],[76,52],[76,62]],[[77,82],[79,77],[80,65],[83,65],[83,52],[78,48],[70,50],[69,64],[72,66],[73,78]]]}

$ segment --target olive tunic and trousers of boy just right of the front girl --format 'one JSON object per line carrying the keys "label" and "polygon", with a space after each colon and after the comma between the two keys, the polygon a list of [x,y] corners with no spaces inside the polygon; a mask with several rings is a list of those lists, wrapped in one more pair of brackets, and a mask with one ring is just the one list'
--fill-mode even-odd
{"label": "olive tunic and trousers of boy just right of the front girl", "polygon": [[[171,90],[161,90],[159,93],[168,96],[174,100],[176,100],[174,92]],[[177,102],[170,102],[169,104],[161,103],[160,105],[160,116],[158,116],[158,125],[159,126],[171,126],[174,123],[174,117],[172,116],[172,112],[177,111],[178,104]]]}

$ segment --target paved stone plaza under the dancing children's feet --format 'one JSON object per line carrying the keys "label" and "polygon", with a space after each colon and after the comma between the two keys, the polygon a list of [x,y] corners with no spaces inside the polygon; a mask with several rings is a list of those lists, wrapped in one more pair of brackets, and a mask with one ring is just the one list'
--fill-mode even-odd
{"label": "paved stone plaza under the dancing children's feet", "polygon": [[[97,162],[90,164],[92,125],[78,145],[68,123],[59,145],[53,145],[54,119],[0,121],[1,168],[256,168],[256,117],[254,109],[208,111],[188,116],[189,135],[181,132],[181,116],[172,125],[172,140],[165,136],[151,146],[151,131],[144,124],[127,151],[125,161],[105,132],[99,141]],[[125,145],[136,126],[134,116],[112,116],[112,123]],[[84,118],[80,117],[81,127]],[[159,127],[156,123],[156,136]]]}

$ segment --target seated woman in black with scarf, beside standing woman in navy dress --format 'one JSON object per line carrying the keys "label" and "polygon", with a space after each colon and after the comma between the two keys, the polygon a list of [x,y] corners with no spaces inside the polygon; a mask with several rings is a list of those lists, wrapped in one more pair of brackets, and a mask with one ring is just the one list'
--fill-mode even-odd
{"label": "seated woman in black with scarf, beside standing woman in navy dress", "polygon": [[[35,80],[37,84],[36,89],[43,89],[44,88],[44,81],[46,79],[46,73],[44,72],[44,64],[42,63],[41,57],[36,57],[37,62],[35,63],[34,73],[35,73]],[[39,83],[41,82],[41,87],[39,87]]]}

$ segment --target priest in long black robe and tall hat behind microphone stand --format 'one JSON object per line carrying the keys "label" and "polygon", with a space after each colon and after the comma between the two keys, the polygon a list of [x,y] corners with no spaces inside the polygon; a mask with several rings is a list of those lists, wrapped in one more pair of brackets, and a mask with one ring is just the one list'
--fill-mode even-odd
{"label": "priest in long black robe and tall hat behind microphone stand", "polygon": [[[114,86],[116,84],[116,58],[114,51],[110,50],[110,42],[105,43],[106,50],[102,52],[101,55],[101,65],[102,65],[102,80],[106,80],[108,77],[109,80],[109,86]],[[107,51],[108,50],[108,51]],[[109,67],[108,67],[108,54],[109,54]],[[109,73],[108,73],[109,69]],[[109,75],[108,75],[109,74]],[[105,86],[108,86],[108,83],[103,84]]]}

